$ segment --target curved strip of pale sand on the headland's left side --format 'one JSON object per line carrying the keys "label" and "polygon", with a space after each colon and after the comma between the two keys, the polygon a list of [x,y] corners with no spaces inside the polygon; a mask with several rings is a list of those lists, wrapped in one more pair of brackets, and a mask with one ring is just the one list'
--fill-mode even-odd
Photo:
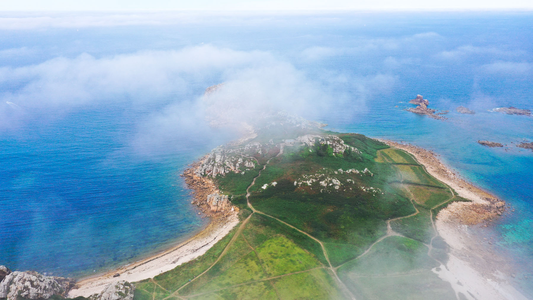
{"label": "curved strip of pale sand on the headland's left side", "polygon": [[[109,283],[117,280],[133,282],[154,278],[160,273],[170,271],[182,263],[205,254],[217,241],[225,237],[237,223],[239,223],[237,213],[231,214],[224,221],[217,220],[216,222],[211,222],[207,228],[196,234],[196,236],[172,249],[168,249],[163,253],[149,257],[138,263],[122,267],[118,270],[112,270],[99,277],[78,282],[77,286],[79,288],[70,290],[68,296],[71,298],[77,296],[88,297],[92,294],[100,293]],[[114,278],[113,275],[116,273],[119,273],[120,277]]]}

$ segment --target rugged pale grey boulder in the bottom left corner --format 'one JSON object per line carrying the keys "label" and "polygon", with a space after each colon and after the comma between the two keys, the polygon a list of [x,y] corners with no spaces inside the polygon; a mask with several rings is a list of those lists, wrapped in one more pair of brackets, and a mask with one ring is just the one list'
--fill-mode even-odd
{"label": "rugged pale grey boulder in the bottom left corner", "polygon": [[0,282],[0,298],[17,300],[48,299],[53,295],[66,296],[74,287],[74,279],[45,276],[33,271],[11,272]]}

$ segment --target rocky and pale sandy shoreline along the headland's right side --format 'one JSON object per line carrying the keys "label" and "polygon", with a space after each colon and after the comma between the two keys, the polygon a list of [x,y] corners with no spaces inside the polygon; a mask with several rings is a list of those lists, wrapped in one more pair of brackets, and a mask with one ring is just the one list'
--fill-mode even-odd
{"label": "rocky and pale sandy shoreline along the headland's right side", "polygon": [[435,227],[450,249],[448,261],[432,271],[451,284],[458,298],[461,294],[467,299],[527,299],[511,285],[512,270],[508,261],[493,253],[483,243],[488,243],[488,239],[472,230],[472,226],[487,227],[501,214],[505,201],[459,178],[433,151],[390,140],[380,141],[410,153],[427,173],[446,183],[459,197],[471,200],[451,202],[437,215]]}

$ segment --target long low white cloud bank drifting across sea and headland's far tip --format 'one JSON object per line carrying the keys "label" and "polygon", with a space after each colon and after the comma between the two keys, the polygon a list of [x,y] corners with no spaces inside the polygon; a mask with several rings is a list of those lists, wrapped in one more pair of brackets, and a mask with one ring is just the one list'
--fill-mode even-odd
{"label": "long low white cloud bank drifting across sea and headland's far tip", "polygon": [[225,84],[217,106],[234,107],[247,115],[287,110],[313,116],[335,102],[320,83],[269,52],[201,45],[104,58],[81,54],[0,68],[0,125],[16,128],[23,125],[18,122],[22,115],[35,112],[46,117],[121,103],[142,108],[154,104],[152,117],[163,125],[174,120],[193,126],[205,112],[204,89],[221,82]]}

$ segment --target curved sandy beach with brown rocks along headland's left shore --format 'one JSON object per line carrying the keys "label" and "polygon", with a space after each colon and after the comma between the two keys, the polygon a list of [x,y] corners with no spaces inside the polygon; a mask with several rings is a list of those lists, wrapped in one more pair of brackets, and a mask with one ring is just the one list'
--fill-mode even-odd
{"label": "curved sandy beach with brown rocks along headland's left shore", "polygon": [[[176,266],[204,255],[209,248],[216,244],[216,242],[227,236],[227,234],[239,223],[239,217],[237,214],[238,210],[231,210],[230,212],[222,214],[211,213],[208,209],[205,209],[204,205],[206,205],[205,201],[207,199],[207,194],[216,192],[217,190],[212,180],[193,177],[192,171],[198,166],[198,164],[199,162],[192,164],[191,167],[185,169],[183,175],[180,176],[186,177],[185,183],[187,183],[188,187],[193,190],[192,194],[196,200],[193,200],[191,205],[197,203],[197,206],[203,210],[204,215],[211,219],[206,227],[189,239],[180,242],[164,252],[119,267],[118,269],[109,270],[101,275],[83,278],[76,282],[76,286],[68,292],[69,297],[89,297],[93,294],[101,293],[109,283],[116,282],[117,280],[135,282],[154,278],[156,275],[170,271]],[[202,207],[198,205],[200,203],[203,204]],[[120,275],[114,277],[117,273]]]}

